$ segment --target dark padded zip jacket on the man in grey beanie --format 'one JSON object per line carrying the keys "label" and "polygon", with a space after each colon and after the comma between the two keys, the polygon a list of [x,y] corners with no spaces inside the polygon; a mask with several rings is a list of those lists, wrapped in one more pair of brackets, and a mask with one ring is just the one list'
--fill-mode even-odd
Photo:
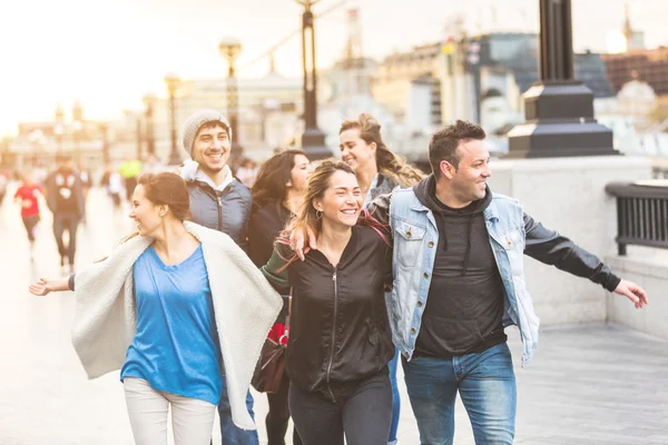
{"label": "dark padded zip jacket on the man in grey beanie", "polygon": [[206,182],[186,182],[190,194],[193,221],[228,235],[242,249],[247,250],[247,226],[253,205],[248,187],[236,178],[220,191]]}

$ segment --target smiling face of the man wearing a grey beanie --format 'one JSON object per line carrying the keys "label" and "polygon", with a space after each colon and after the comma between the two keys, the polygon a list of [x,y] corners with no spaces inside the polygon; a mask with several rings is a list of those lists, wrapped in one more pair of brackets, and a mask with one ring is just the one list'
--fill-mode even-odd
{"label": "smiling face of the man wearing a grey beanie", "polygon": [[227,164],[230,148],[229,135],[222,125],[205,123],[193,142],[193,160],[205,174],[217,174]]}

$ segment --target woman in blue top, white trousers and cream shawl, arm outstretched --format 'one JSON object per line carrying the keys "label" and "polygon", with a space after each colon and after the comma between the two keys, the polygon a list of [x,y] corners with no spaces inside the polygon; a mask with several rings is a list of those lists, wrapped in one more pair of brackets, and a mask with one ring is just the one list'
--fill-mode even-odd
{"label": "woman in blue top, white trousers and cream shawl, arm outstretched", "polygon": [[188,216],[181,178],[144,175],[136,234],[69,279],[30,286],[75,290],[75,349],[89,378],[121,368],[138,445],[167,443],[169,405],[176,445],[209,444],[223,368],[234,423],[255,428],[246,393],[281,297],[227,235]]}

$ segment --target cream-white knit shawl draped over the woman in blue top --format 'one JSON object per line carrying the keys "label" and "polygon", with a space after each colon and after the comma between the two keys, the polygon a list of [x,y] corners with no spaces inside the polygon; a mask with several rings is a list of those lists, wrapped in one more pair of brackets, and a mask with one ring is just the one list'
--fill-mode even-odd
{"label": "cream-white knit shawl draped over the woman in blue top", "polygon": [[[282,298],[232,238],[194,222],[184,225],[202,243],[232,419],[240,428],[255,429],[246,392]],[[125,363],[137,330],[132,265],[151,243],[135,237],[75,277],[72,344],[88,378],[119,369]]]}

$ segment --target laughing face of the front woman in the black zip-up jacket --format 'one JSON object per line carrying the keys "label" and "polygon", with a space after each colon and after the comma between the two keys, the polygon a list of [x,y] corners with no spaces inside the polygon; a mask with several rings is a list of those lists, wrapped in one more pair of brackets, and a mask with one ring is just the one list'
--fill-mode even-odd
{"label": "laughing face of the front woman in the black zip-up jacket", "polygon": [[332,225],[353,227],[362,210],[362,191],[355,175],[336,170],[330,177],[330,185],[313,207],[322,211],[323,220]]}

